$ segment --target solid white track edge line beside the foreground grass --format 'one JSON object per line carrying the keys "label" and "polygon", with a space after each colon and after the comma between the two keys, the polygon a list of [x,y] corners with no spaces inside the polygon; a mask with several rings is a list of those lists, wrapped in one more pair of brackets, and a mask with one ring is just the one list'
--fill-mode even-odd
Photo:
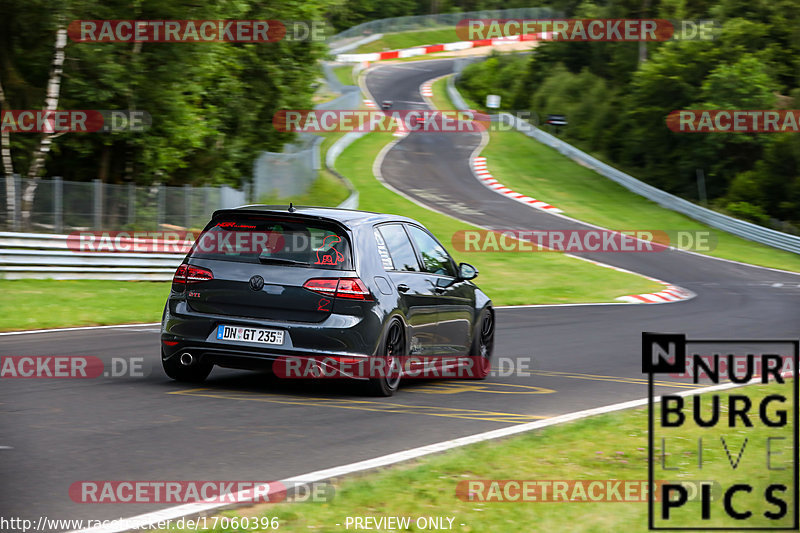
{"label": "solid white track edge line beside the foreground grass", "polygon": [[[744,385],[758,383],[760,382],[760,379],[761,378],[753,378],[749,383],[746,384],[724,383],[721,385],[713,385],[711,387],[689,389],[673,394],[672,396],[693,396],[695,394],[702,394],[705,392],[715,392],[720,390],[732,389],[735,387],[742,387]],[[654,398],[654,402],[659,402],[660,400],[661,400],[660,396]],[[418,459],[426,455],[440,453],[447,450],[452,450],[454,448],[460,448],[462,446],[467,446],[469,444],[475,444],[478,442],[510,437],[513,435],[519,435],[520,433],[526,433],[528,431],[533,431],[548,426],[563,424],[565,422],[572,422],[590,416],[612,413],[615,411],[631,409],[634,407],[642,407],[647,405],[647,403],[648,403],[647,398],[641,398],[639,400],[631,400],[628,402],[606,405],[604,407],[595,407],[593,409],[586,409],[584,411],[567,413],[564,415],[554,416],[546,420],[527,422],[525,424],[518,424],[515,426],[509,426],[500,429],[495,429],[492,431],[486,431],[483,433],[477,433],[475,435],[469,435],[458,439],[452,439],[443,442],[437,442],[434,444],[428,444],[427,446],[420,446],[419,448],[412,448],[410,450],[404,450],[402,452],[390,453],[388,455],[375,457],[373,459],[367,459],[365,461],[359,461],[356,463],[336,466],[324,470],[316,470],[314,472],[309,472],[307,474],[281,480],[279,483],[282,483],[286,487],[296,487],[301,484],[319,483],[322,481],[328,481],[335,478],[339,478],[341,476],[354,474],[356,472],[365,472],[367,470],[374,470],[376,468],[395,465],[397,463],[410,461],[412,459]],[[248,490],[247,492],[248,494],[252,494],[251,490]],[[231,507],[231,504],[218,503],[218,502],[189,503],[184,505],[178,505],[175,507],[169,507],[161,511],[155,511],[152,513],[145,513],[138,516],[133,516],[127,519],[120,519],[115,523],[109,523],[98,527],[74,530],[69,533],[121,533],[123,531],[128,531],[132,529],[132,527],[128,527],[129,525],[132,524],[135,524],[135,527],[144,528],[145,526],[157,524],[158,522],[165,521],[168,519],[176,520],[182,517],[191,517],[201,514],[207,514],[209,511],[220,510],[223,507]]]}

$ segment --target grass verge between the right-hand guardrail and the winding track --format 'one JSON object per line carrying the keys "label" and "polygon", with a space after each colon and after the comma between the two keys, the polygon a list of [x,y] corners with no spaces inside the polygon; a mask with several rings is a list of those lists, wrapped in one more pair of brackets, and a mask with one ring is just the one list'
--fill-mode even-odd
{"label": "grass verge between the right-hand guardrail and the winding track", "polygon": [[[433,84],[439,109],[452,109],[446,80]],[[564,214],[615,230],[710,231],[716,248],[708,255],[754,265],[800,271],[800,256],[741,239],[675,211],[664,209],[558,151],[517,131],[493,131],[481,155],[489,172],[517,192],[543,200]]]}

